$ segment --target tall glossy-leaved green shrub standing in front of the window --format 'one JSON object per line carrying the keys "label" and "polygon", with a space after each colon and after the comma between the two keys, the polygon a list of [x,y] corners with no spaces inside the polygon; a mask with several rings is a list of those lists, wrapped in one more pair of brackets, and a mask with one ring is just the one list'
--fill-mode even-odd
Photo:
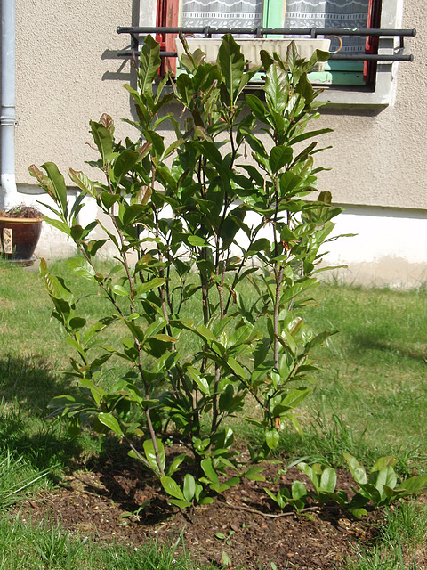
{"label": "tall glossy-leaved green shrub standing in front of the window", "polygon": [[[76,350],[71,375],[81,388],[55,398],[52,416],[66,416],[72,433],[87,419],[101,433],[114,432],[182,508],[212,501],[241,477],[262,480],[257,468],[239,467],[224,420],[242,415],[247,399],[254,403],[245,419],[261,428],[263,442],[250,449],[253,462],[278,446],[289,422],[301,431],[294,411],[314,382],[311,353],[334,332],[316,334],[302,318],[318,287],[320,248],[340,212],[329,192],[307,199],[323,170],[314,167],[317,139],[330,130],[308,129],[322,103],[307,72],[326,58],[316,52],[300,60],[294,45],[286,61],[262,52],[262,98],[244,96],[254,71],[245,71],[238,45],[226,36],[215,65],[186,47],[172,93],[164,90],[166,79],[155,93],[159,45],[147,37],[138,90],[128,87],[140,138],[117,142],[107,115],[91,122],[100,159],[89,164],[102,182],[70,169],[80,193],[68,208],[58,168],[30,167],[54,202],[47,221],[76,243],[80,256],[68,267],[109,304],[96,322],[86,322],[80,299],[42,261],[52,315]],[[171,102],[180,106],[181,122]],[[166,122],[175,134],[169,146],[158,133]],[[87,196],[109,224],[78,223]],[[93,240],[95,228],[105,237]],[[101,273],[96,260],[107,241],[116,264]],[[252,284],[250,297],[241,293],[243,281]],[[192,298],[200,304],[196,319],[184,316]],[[122,331],[121,346],[101,341],[112,327]],[[189,338],[186,357],[181,345]],[[117,359],[128,369],[108,389],[103,378]],[[171,427],[189,452],[166,465]],[[182,479],[184,461],[193,467]]]}

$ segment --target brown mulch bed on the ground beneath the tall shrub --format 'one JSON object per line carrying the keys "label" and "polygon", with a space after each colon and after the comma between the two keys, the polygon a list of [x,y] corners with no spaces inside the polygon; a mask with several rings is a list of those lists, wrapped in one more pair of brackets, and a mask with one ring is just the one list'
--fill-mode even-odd
{"label": "brown mulch bed on the ground beneath the tall shrub", "polygon": [[[251,570],[271,569],[270,562],[279,570],[337,568],[344,558],[355,556],[360,541],[374,538],[379,512],[358,521],[333,505],[311,503],[313,509],[307,513],[311,519],[294,513],[278,517],[280,512],[262,487],[276,491],[296,478],[308,481],[297,468],[278,475],[280,467],[266,463],[265,483],[244,480],[212,505],[197,507],[191,519],[167,504],[157,480],[136,461],[110,455],[91,470],[76,470],[60,488],[27,501],[24,509],[20,505],[20,516],[53,517],[72,533],[125,542],[133,548],[155,537],[162,543],[175,542],[182,533],[186,551],[196,560],[224,567],[222,552],[226,552],[232,562],[229,567]],[[345,472],[339,473],[339,487],[350,489]],[[125,515],[145,501],[149,504],[139,514]],[[217,533],[228,540],[217,538]]]}

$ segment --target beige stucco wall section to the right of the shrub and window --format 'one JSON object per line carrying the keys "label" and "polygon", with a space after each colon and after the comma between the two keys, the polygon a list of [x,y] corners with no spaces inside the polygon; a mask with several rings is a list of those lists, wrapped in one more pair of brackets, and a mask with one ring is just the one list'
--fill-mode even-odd
{"label": "beige stucco wall section to the right of the shrub and window", "polygon": [[[412,63],[395,69],[396,101],[383,110],[331,110],[322,126],[334,128],[334,146],[323,159],[333,167],[323,176],[334,199],[347,204],[427,208],[427,3],[406,0],[403,28],[416,28],[406,40]],[[396,66],[396,64],[394,64]]]}

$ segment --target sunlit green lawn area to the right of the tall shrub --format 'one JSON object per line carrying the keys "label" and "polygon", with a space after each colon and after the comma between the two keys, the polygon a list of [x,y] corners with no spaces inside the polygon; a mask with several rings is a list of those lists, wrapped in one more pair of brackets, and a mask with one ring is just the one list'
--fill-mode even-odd
{"label": "sunlit green lawn area to the right of the tall shrub", "polygon": [[[372,460],[397,454],[400,467],[427,468],[427,295],[425,291],[324,286],[307,320],[340,330],[318,350],[322,371],[308,410],[317,428],[304,452],[340,451]],[[332,421],[331,421],[332,419]],[[298,453],[292,434],[284,446]],[[369,462],[369,461],[367,461]]]}

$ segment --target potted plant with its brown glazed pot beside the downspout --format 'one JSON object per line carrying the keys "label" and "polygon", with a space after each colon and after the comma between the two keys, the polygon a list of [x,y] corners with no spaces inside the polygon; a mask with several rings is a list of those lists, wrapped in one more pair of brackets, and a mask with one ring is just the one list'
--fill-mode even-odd
{"label": "potted plant with its brown glazed pot beside the downspout", "polygon": [[42,213],[32,206],[0,211],[0,254],[8,261],[31,265],[42,232]]}

